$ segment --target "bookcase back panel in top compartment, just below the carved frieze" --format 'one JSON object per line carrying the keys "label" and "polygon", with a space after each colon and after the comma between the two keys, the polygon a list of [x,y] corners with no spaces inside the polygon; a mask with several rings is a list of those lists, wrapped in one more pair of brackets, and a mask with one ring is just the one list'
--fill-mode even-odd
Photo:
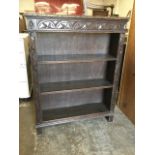
{"label": "bookcase back panel in top compartment, just below the carved frieze", "polygon": [[107,54],[110,34],[37,33],[38,55]]}

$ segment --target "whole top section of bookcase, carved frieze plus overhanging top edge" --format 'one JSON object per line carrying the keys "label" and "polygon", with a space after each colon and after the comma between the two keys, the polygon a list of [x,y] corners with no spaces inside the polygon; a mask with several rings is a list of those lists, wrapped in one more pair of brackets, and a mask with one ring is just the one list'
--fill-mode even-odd
{"label": "whole top section of bookcase, carved frieze plus overhanging top edge", "polygon": [[93,16],[57,16],[27,13],[28,31],[36,32],[84,32],[125,33],[128,18]]}

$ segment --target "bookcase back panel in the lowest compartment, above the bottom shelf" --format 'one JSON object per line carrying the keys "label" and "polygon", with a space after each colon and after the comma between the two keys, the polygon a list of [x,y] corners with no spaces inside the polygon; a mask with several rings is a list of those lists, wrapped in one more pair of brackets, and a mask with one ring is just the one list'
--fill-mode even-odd
{"label": "bookcase back panel in the lowest compartment, above the bottom shelf", "polygon": [[89,90],[89,91],[73,91],[66,93],[50,94],[40,96],[42,109],[55,109],[62,107],[73,107],[84,105],[88,103],[102,103],[103,90]]}

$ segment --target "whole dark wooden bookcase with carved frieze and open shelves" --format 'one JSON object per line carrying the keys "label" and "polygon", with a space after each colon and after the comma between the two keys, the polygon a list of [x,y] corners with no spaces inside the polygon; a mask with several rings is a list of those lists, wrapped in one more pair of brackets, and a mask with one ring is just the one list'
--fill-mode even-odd
{"label": "whole dark wooden bookcase with carved frieze and open shelves", "polygon": [[127,18],[25,14],[36,128],[113,120]]}

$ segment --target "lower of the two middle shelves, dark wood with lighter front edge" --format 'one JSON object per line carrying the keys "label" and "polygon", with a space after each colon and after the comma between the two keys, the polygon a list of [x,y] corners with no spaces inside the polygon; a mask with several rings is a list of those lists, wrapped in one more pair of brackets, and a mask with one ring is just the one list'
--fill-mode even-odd
{"label": "lower of the two middle shelves, dark wood with lighter front edge", "polygon": [[112,88],[113,85],[103,79],[93,80],[79,80],[79,81],[66,81],[66,82],[53,82],[53,83],[42,83],[40,84],[41,95],[80,91],[88,89],[102,89]]}

